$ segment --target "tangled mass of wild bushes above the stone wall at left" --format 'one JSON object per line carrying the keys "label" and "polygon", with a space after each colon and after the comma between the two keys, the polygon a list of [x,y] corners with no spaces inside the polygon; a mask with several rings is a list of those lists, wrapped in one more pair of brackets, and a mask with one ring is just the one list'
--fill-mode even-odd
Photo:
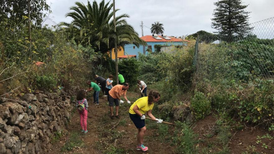
{"label": "tangled mass of wild bushes above the stone wall at left", "polygon": [[[34,27],[32,42],[27,38],[27,27],[3,28],[0,21],[1,52],[0,92],[5,93],[20,86],[22,91],[36,88],[54,90],[57,85],[70,88],[83,84],[93,72],[98,56],[90,47],[81,47],[66,40],[62,30]],[[41,65],[35,63],[44,62]],[[11,77],[11,78],[9,78]],[[77,81],[77,82],[76,82]]]}

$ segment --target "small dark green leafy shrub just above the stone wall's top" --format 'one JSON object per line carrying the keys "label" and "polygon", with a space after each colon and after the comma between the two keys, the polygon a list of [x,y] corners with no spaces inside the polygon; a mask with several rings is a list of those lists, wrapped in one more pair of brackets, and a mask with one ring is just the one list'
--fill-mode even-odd
{"label": "small dark green leafy shrub just above the stone wall's top", "polygon": [[57,87],[57,81],[50,75],[36,76],[36,86],[41,90],[50,90]]}

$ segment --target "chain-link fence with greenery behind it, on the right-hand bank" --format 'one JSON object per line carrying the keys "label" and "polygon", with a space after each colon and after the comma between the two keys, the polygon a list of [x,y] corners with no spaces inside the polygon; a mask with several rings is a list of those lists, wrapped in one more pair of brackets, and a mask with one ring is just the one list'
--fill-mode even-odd
{"label": "chain-link fence with greenery behind it, on the right-hand bank", "polygon": [[198,37],[193,60],[195,80],[273,78],[274,17],[250,27],[248,34],[228,30]]}

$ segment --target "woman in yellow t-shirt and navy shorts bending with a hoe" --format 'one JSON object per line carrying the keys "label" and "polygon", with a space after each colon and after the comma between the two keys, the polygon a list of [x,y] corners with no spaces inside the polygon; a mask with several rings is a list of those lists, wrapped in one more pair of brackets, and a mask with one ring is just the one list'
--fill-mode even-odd
{"label": "woman in yellow t-shirt and navy shorts bending with a hoe", "polygon": [[138,100],[136,100],[131,106],[129,110],[130,119],[135,124],[136,128],[138,128],[138,134],[137,134],[137,150],[147,151],[148,147],[144,146],[144,133],[146,132],[145,127],[145,113],[147,112],[147,115],[157,120],[157,123],[162,123],[162,119],[157,119],[153,116],[152,108],[154,106],[154,103],[158,102],[160,99],[160,94],[158,91],[150,91],[149,96],[147,97],[141,97]]}

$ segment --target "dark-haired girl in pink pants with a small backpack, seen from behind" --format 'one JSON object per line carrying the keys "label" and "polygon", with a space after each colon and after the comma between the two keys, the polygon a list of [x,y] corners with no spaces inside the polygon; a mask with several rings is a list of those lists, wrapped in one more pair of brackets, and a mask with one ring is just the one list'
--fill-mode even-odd
{"label": "dark-haired girl in pink pants with a small backpack, seen from behind", "polygon": [[[85,99],[84,97],[86,96],[87,92],[85,90],[80,90],[77,93],[77,102],[76,102],[76,106],[78,107],[78,112],[80,114],[80,124],[81,124],[81,128],[82,128],[82,132],[83,133],[87,133],[87,108],[88,108],[88,103],[87,103],[87,99]],[[79,106],[81,108],[81,105],[83,106],[83,110],[79,110]]]}

